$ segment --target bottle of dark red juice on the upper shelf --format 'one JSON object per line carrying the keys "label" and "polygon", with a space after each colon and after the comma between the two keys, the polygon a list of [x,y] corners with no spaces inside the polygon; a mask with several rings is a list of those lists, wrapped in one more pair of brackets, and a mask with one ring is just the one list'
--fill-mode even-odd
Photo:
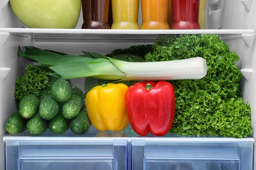
{"label": "bottle of dark red juice on the upper shelf", "polygon": [[200,29],[199,5],[200,0],[172,0],[171,29]]}

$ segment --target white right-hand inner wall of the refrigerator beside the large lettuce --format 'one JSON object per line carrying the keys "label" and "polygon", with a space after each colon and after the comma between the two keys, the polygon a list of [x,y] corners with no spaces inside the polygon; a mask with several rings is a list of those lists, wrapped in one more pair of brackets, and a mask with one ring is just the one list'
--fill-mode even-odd
{"label": "white right-hand inner wall of the refrigerator beside the large lettuce", "polygon": [[[256,0],[208,0],[206,9],[207,29],[256,29]],[[244,78],[241,90],[244,102],[252,107],[253,137],[256,136],[256,34],[221,35],[230,45],[230,51],[240,56],[237,63]],[[255,137],[254,137],[255,138]],[[256,159],[254,160],[256,161]],[[256,167],[254,167],[256,170]]]}

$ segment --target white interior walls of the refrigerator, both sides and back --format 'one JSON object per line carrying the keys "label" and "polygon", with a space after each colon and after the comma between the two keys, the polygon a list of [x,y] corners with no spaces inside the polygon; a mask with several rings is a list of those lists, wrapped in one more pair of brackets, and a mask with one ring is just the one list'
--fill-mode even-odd
{"label": "white interior walls of the refrigerator, both sides and back", "polygon": [[[256,28],[256,0],[208,0],[207,3],[207,28],[208,29],[255,29]],[[76,28],[81,28],[82,16]],[[139,23],[142,23],[141,13]],[[8,0],[0,0],[0,27],[22,28],[23,25],[15,17]],[[111,36],[110,36],[111,37]],[[250,101],[252,106],[253,136],[256,136],[256,39],[255,34],[221,35],[230,50],[236,51],[240,56],[239,68],[243,69],[242,92],[244,102]],[[100,37],[99,37],[100,38]],[[5,122],[16,110],[14,99],[14,82],[17,76],[25,73],[29,64],[17,56],[17,47],[34,45],[38,48],[50,49],[67,54],[79,55],[79,51],[95,51],[106,54],[116,48],[127,48],[131,45],[148,44],[152,40],[120,39],[67,39],[54,40],[32,39],[8,33],[0,33],[0,137],[6,134]],[[9,72],[9,68],[11,68]],[[9,72],[9,74],[8,74]],[[6,76],[6,74],[8,74]],[[79,88],[84,88],[84,79],[77,79],[72,83]],[[3,142],[0,140],[0,170],[4,169]]]}

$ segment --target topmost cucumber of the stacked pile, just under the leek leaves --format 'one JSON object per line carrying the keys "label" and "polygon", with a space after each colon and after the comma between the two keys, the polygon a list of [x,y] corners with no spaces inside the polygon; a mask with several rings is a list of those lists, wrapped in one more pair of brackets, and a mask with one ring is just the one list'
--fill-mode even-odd
{"label": "topmost cucumber of the stacked pile, just under the leek leaves", "polygon": [[52,97],[57,102],[67,102],[72,94],[71,83],[64,79],[57,79],[51,88]]}

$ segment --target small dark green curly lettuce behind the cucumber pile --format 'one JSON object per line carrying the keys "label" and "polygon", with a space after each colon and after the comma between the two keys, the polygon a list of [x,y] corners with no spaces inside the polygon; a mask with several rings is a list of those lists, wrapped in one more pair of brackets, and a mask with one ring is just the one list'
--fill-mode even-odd
{"label": "small dark green curly lettuce behind the cucumber pile", "polygon": [[15,81],[15,99],[17,106],[20,100],[28,95],[35,94],[42,98],[49,94],[54,77],[49,76],[52,71],[41,66],[28,65],[26,74],[17,77]]}

